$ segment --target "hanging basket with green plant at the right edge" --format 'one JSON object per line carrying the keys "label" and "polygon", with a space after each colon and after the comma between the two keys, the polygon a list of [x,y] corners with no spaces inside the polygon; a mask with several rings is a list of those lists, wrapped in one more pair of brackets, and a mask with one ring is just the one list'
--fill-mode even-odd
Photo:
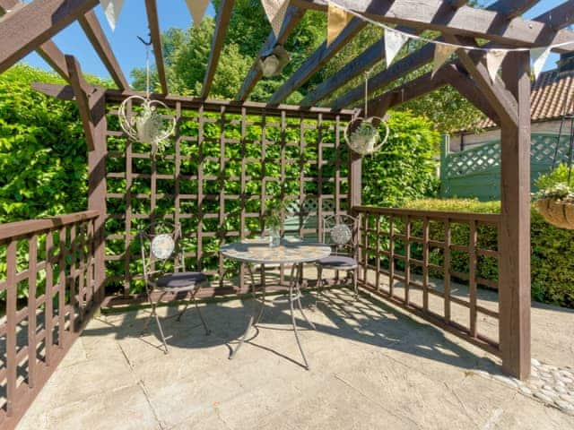
{"label": "hanging basket with green plant at the right edge", "polygon": [[560,228],[574,229],[574,180],[569,182],[569,168],[561,165],[547,175],[540,176],[536,185],[540,191],[533,200],[540,215]]}

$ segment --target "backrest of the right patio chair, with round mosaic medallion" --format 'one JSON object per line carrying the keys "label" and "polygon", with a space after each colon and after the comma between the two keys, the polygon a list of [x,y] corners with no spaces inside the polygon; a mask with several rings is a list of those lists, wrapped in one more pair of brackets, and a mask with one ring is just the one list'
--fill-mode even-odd
{"label": "backrest of the right patio chair, with round mosaic medallion", "polygon": [[337,213],[323,218],[323,243],[335,248],[335,254],[357,254],[359,221],[351,215]]}

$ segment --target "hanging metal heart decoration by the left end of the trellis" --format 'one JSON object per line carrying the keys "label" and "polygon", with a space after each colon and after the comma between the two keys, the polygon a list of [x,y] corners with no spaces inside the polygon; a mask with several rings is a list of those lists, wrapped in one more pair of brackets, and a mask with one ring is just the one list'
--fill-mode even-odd
{"label": "hanging metal heart decoration by the left end of the trellis", "polygon": [[[169,145],[170,136],[176,129],[175,116],[165,116],[159,109],[169,110],[169,107],[160,100],[150,99],[150,49],[152,41],[146,42],[139,36],[145,45],[145,97],[131,96],[125,99],[117,111],[119,125],[122,130],[137,142],[149,143],[152,151],[165,150]],[[139,106],[137,112],[127,112]]]}

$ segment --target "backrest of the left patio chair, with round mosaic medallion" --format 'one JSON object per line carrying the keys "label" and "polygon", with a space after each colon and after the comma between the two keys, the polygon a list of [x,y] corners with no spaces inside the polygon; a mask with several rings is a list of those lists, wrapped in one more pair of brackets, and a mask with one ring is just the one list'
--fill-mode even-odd
{"label": "backrest of the left patio chair, with round mosaic medallion", "polygon": [[153,222],[137,235],[143,260],[143,277],[151,271],[186,271],[185,259],[179,249],[181,226],[169,221]]}

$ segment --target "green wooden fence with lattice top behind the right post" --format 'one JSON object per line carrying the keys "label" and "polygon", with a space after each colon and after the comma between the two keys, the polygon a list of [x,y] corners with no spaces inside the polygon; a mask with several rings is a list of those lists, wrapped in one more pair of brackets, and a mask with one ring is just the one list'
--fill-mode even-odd
{"label": "green wooden fence with lattice top behind the right post", "polygon": [[[558,134],[532,133],[530,151],[531,189],[535,180],[552,168]],[[558,160],[566,160],[569,136],[563,135]],[[500,140],[485,142],[470,150],[448,152],[445,136],[440,151],[440,193],[442,197],[500,199]]]}

